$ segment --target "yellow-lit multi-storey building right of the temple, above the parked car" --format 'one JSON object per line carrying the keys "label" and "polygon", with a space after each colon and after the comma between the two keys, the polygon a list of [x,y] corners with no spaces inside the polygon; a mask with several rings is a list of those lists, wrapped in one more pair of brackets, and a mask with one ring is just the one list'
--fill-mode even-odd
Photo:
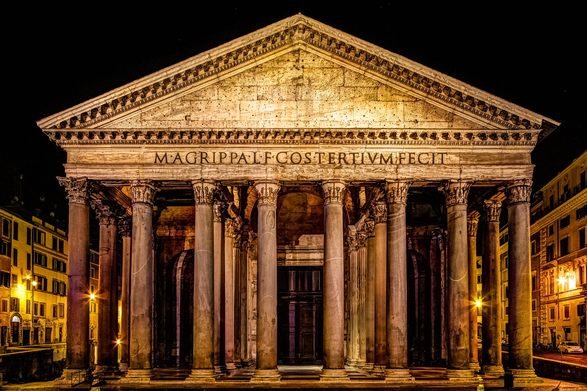
{"label": "yellow-lit multi-storey building right of the temple, above the parked car", "polygon": [[[587,346],[587,151],[546,183],[530,207],[532,335],[537,344]],[[508,229],[500,232],[502,333],[508,335]],[[560,339],[558,338],[560,336]]]}

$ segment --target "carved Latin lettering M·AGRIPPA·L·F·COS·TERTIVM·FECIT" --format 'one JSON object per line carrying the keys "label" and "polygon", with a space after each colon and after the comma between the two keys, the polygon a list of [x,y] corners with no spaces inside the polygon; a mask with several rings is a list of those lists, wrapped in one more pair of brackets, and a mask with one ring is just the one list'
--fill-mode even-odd
{"label": "carved Latin lettering M\u00b7AGRIPPA\u00b7L\u00b7F\u00b7COS\u00b7TERTIVM\u00b7FECIT", "polygon": [[446,152],[155,152],[154,164],[446,164]]}

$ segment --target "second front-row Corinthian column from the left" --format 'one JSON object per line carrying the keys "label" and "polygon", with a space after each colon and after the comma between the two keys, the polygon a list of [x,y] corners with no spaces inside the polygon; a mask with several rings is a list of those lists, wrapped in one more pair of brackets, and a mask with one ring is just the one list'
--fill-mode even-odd
{"label": "second front-row Corinthian column from the left", "polygon": [[148,382],[153,376],[153,199],[157,188],[150,179],[130,183],[133,239],[130,277],[130,363],[126,381]]}

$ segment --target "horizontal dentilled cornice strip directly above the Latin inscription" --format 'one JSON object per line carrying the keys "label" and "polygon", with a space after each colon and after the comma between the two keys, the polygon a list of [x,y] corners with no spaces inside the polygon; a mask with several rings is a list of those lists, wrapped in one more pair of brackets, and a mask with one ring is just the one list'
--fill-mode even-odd
{"label": "horizontal dentilled cornice strip directly above the Latin inscription", "polygon": [[374,144],[534,147],[541,130],[393,128],[129,128],[46,130],[58,145]]}

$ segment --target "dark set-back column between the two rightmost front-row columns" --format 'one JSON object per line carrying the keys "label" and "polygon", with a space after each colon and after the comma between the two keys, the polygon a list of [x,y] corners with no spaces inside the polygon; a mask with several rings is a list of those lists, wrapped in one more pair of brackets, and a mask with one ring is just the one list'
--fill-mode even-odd
{"label": "dark set-back column between the two rightmost front-row columns", "polygon": [[503,376],[501,365],[501,268],[500,268],[500,200],[486,200],[483,205],[485,240],[481,276],[481,358],[483,375]]}

